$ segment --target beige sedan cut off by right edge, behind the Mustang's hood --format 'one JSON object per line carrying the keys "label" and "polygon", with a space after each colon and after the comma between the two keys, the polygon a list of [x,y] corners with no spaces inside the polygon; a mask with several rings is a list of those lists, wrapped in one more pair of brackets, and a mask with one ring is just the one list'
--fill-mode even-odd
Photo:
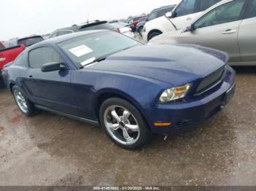
{"label": "beige sedan cut off by right edge, behind the Mustang's hood", "polygon": [[256,65],[256,1],[226,0],[206,10],[183,30],[151,43],[200,44],[227,52],[230,65]]}

